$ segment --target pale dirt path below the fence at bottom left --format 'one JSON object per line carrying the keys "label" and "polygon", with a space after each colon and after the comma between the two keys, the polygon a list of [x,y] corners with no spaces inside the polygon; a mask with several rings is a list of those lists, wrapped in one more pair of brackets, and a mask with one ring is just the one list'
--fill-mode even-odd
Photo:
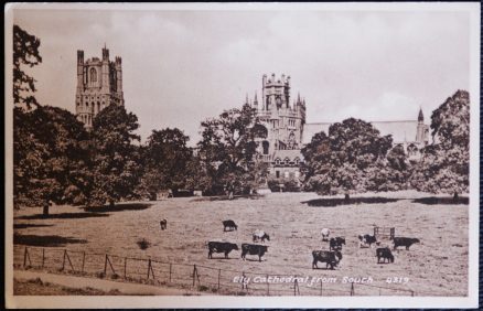
{"label": "pale dirt path below the fence at bottom left", "polygon": [[162,288],[148,285],[136,285],[117,282],[109,280],[100,280],[95,278],[83,278],[64,275],[52,275],[36,271],[15,270],[15,279],[18,280],[34,280],[40,278],[42,282],[60,285],[67,288],[93,288],[105,292],[120,292],[120,294],[137,294],[137,296],[183,296],[183,294],[201,294],[200,292],[182,290],[175,288]]}

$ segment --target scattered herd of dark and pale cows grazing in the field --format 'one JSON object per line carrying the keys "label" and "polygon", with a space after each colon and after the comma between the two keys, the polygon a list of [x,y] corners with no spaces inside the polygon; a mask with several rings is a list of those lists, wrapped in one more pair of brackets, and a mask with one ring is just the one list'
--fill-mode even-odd
{"label": "scattered herd of dark and pale cows grazing in the field", "polygon": [[[227,230],[237,230],[238,226],[235,224],[234,221],[223,221],[223,232]],[[162,219],[160,222],[161,229],[167,229],[168,222],[167,219]],[[330,237],[331,230],[329,228],[323,228],[321,230],[322,235],[322,242],[329,243],[329,250],[319,249],[312,251],[312,269],[318,269],[318,262],[325,264],[325,269],[329,267],[331,269],[334,269],[342,260],[342,247],[345,246],[345,237],[336,236],[336,237]],[[265,240],[270,240],[270,236],[260,229],[256,229],[253,233],[253,243],[265,243]],[[377,240],[377,237],[375,235],[368,235],[368,234],[362,234],[358,235],[359,240],[359,247],[373,247],[373,244],[379,246],[380,242]],[[404,246],[406,247],[406,250],[409,250],[409,247],[412,244],[419,244],[420,240],[418,238],[409,238],[409,237],[391,237],[390,238],[394,243],[393,249],[396,250],[398,247]],[[239,250],[238,245],[235,243],[228,243],[228,242],[215,242],[211,240],[206,244],[208,248],[208,259],[213,258],[214,253],[223,253],[225,255],[225,258],[228,259],[228,254],[232,250]],[[265,253],[268,251],[268,246],[260,245],[260,244],[248,244],[244,243],[242,244],[242,259],[245,260],[247,255],[258,256],[258,261],[261,261],[261,257],[265,255]],[[390,251],[390,248],[388,246],[385,247],[378,247],[376,248],[376,257],[377,257],[377,264],[393,264],[394,262],[394,255]]]}

